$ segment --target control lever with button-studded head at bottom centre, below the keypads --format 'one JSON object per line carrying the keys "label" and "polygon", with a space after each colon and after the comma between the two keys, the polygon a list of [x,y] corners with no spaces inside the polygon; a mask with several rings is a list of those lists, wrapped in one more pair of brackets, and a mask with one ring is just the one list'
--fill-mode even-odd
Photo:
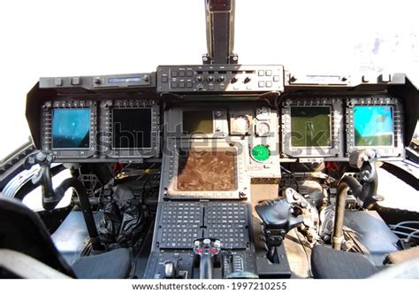
{"label": "control lever with button-studded head at bottom centre, below the keypads", "polygon": [[214,258],[221,251],[221,242],[217,239],[197,239],[194,241],[194,253],[200,258],[200,279],[212,279]]}

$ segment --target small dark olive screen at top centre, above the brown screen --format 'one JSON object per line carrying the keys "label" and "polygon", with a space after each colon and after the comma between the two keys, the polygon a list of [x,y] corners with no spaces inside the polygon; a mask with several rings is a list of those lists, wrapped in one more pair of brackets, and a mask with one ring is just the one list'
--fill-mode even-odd
{"label": "small dark olive screen at top centre, above the brown screen", "polygon": [[182,123],[183,132],[189,135],[214,133],[212,111],[184,111]]}

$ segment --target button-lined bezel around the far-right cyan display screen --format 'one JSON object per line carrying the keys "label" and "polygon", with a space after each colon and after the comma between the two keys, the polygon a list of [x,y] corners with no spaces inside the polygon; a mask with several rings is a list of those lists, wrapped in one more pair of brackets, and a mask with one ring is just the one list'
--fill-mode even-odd
{"label": "button-lined bezel around the far-right cyan display screen", "polygon": [[[392,145],[356,145],[354,107],[390,106],[392,107]],[[377,150],[381,157],[404,158],[403,109],[400,101],[392,96],[352,97],[347,99],[347,156],[354,150]]]}

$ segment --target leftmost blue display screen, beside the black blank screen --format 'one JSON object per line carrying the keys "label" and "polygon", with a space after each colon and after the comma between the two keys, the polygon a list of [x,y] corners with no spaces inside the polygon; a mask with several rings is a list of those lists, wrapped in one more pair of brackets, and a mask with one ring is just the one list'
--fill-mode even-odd
{"label": "leftmost blue display screen, beside the black blank screen", "polygon": [[54,109],[53,149],[88,149],[89,136],[90,109]]}

